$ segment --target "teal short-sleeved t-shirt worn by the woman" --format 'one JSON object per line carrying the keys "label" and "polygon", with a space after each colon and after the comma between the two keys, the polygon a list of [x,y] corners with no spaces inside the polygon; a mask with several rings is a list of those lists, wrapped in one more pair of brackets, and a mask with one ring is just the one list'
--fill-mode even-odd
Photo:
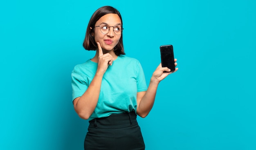
{"label": "teal short-sleeved t-shirt worn by the woman", "polygon": [[[81,97],[92,82],[98,63],[87,60],[72,71],[72,98]],[[98,104],[89,120],[137,110],[137,92],[147,90],[138,60],[120,55],[103,75]]]}

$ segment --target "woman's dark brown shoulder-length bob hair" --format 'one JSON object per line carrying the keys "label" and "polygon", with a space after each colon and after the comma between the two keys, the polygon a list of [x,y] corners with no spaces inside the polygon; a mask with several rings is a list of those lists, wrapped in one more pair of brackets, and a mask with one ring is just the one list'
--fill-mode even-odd
{"label": "woman's dark brown shoulder-length bob hair", "polygon": [[[97,49],[97,43],[94,40],[94,37],[92,37],[92,33],[94,32],[94,26],[96,22],[103,16],[109,13],[115,13],[119,16],[121,20],[121,25],[123,26],[123,21],[121,18],[121,14],[119,11],[111,6],[103,6],[97,11],[95,11],[92,14],[92,17],[88,23],[86,34],[85,34],[85,40],[83,41],[83,47],[88,51],[95,51]],[[92,29],[90,29],[90,27]],[[121,38],[118,42],[118,44],[114,47],[114,52],[116,55],[125,55],[124,53],[124,45],[123,45],[123,33],[121,33]]]}

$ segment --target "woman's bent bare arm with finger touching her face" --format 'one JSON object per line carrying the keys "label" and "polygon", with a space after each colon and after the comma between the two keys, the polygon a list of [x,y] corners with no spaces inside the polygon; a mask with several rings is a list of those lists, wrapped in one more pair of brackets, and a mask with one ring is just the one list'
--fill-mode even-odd
{"label": "woman's bent bare arm with finger touching her face", "polygon": [[81,97],[74,99],[74,109],[79,117],[83,119],[89,119],[92,115],[95,107],[97,106],[99,93],[101,90],[101,82],[104,73],[106,72],[108,65],[112,65],[114,58],[109,53],[103,55],[101,46],[98,44],[98,68],[92,82],[88,86],[88,89],[83,93]]}

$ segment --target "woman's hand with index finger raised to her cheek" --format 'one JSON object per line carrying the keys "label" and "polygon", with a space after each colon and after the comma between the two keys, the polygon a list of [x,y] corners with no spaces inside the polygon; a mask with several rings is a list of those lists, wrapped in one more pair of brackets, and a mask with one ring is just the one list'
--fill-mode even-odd
{"label": "woman's hand with index finger raised to her cheek", "polygon": [[97,71],[104,74],[108,69],[108,66],[112,65],[114,61],[114,57],[112,57],[112,55],[110,55],[109,53],[103,54],[101,45],[99,44],[99,42],[97,42],[97,45],[98,45],[98,51],[99,51]]}

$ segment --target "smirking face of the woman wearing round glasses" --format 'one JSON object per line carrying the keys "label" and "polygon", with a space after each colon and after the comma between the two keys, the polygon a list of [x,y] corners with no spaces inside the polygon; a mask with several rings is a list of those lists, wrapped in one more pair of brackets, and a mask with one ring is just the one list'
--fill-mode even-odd
{"label": "smirking face of the woman wearing round glasses", "polygon": [[[112,26],[122,26],[121,19],[119,18],[119,16],[115,13],[109,13],[109,14],[103,15],[96,22],[95,26],[101,26],[101,27],[95,27],[94,29],[95,42],[99,42],[101,44],[102,50],[106,50],[106,51],[114,50],[114,47],[118,44],[119,39],[121,38],[121,34],[116,35],[114,33],[114,28]],[[103,34],[101,32],[100,28],[102,28],[102,26],[111,26],[107,34]],[[106,28],[103,28],[103,29],[106,29]]]}

